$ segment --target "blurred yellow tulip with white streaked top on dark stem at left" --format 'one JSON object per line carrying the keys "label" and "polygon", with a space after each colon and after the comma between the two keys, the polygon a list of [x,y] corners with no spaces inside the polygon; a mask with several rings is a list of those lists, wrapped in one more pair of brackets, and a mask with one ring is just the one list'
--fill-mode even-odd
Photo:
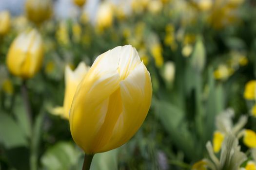
{"label": "blurred yellow tulip with white streaked top on dark stem at left", "polygon": [[36,30],[21,33],[14,39],[7,54],[10,72],[23,79],[33,77],[41,68],[43,43]]}

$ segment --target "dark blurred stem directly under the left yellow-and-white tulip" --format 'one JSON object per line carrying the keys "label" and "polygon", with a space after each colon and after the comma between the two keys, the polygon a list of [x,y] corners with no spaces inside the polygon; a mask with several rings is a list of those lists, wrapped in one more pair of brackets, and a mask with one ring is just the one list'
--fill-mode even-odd
{"label": "dark blurred stem directly under the left yellow-and-white tulip", "polygon": [[31,105],[30,105],[29,98],[28,98],[28,89],[27,89],[25,80],[23,80],[22,85],[21,85],[21,93],[22,93],[23,102],[24,102],[24,105],[26,108],[27,118],[30,123],[30,128],[32,128],[32,125],[33,125],[32,110],[31,110]]}

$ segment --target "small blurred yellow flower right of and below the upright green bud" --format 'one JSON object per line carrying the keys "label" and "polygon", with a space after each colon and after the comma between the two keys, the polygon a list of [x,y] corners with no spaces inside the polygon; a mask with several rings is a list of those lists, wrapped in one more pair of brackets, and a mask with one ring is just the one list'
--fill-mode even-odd
{"label": "small blurred yellow flower right of and below the upright green bud", "polygon": [[217,70],[214,71],[214,77],[217,80],[226,80],[234,73],[233,68],[228,68],[226,65],[219,65]]}

